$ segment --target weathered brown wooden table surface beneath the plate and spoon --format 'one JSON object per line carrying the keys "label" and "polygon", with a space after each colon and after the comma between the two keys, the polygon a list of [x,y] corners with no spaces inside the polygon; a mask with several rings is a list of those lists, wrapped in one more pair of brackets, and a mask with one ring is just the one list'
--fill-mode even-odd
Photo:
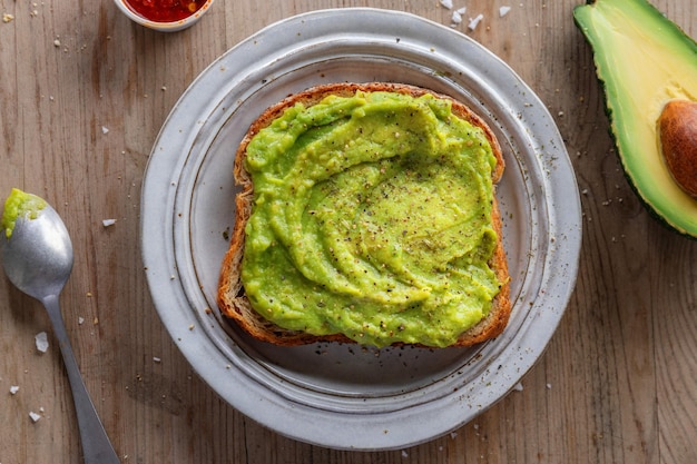
{"label": "weathered brown wooden table surface beneath the plate and spoon", "polygon": [[[131,23],[110,0],[0,0],[0,196],[38,194],[65,218],[76,261],[63,317],[124,463],[697,462],[697,243],[655,221],[624,178],[580,0],[454,0],[474,31],[553,115],[583,213],[576,292],[538,364],[459,431],[390,452],[333,451],[279,436],[223,402],[160,323],[139,245],[140,188],[165,118],[224,51],[322,8],[409,11],[444,26],[438,0],[217,0],[173,34]],[[499,17],[499,7],[511,11]],[[655,3],[697,36],[697,3]],[[115,218],[105,227],[102,219]],[[66,372],[39,303],[0,279],[0,463],[78,463]],[[39,353],[35,335],[49,334]],[[13,386],[19,389],[16,393]],[[36,423],[30,412],[39,414]]]}

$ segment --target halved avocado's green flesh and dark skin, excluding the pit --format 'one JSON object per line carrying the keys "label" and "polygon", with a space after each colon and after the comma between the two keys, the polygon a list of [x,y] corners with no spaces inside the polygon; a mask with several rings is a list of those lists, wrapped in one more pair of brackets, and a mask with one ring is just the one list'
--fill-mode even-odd
{"label": "halved avocado's green flesh and dark skin, excluding the pit", "polygon": [[697,200],[675,182],[657,130],[668,101],[697,101],[697,43],[646,0],[596,0],[573,19],[592,48],[629,182],[664,224],[697,237]]}

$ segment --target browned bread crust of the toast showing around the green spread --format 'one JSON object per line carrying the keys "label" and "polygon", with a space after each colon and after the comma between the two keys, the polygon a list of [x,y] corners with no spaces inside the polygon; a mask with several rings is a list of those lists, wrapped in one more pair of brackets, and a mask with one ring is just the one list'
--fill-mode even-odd
{"label": "browned bread crust of the toast showing around the green spread", "polygon": [[[340,97],[350,97],[355,95],[356,91],[390,91],[406,93],[413,97],[420,97],[425,93],[430,93],[438,98],[450,99],[452,101],[453,115],[469,121],[473,126],[477,126],[484,131],[484,135],[488,138],[493,155],[497,159],[495,168],[492,171],[492,180],[494,185],[499,181],[503,174],[504,161],[501,152],[501,147],[487,124],[463,103],[453,100],[450,97],[436,95],[435,92],[428,89],[401,83],[385,82],[333,83],[314,87],[306,91],[289,96],[277,105],[268,108],[249,127],[249,130],[247,131],[246,136],[244,137],[237,149],[234,176],[236,184],[242,188],[242,190],[235,199],[237,206],[235,226],[230,237],[229,249],[223,260],[218,286],[218,305],[220,312],[225,316],[235,320],[239,327],[242,327],[254,338],[275,345],[285,346],[303,345],[316,342],[355,343],[354,340],[342,334],[316,336],[303,332],[288,330],[265,319],[252,307],[249,300],[247,299],[244,292],[243,283],[240,280],[240,270],[245,248],[245,226],[252,215],[252,206],[254,200],[254,185],[249,174],[244,168],[243,162],[246,156],[247,145],[261,129],[271,125],[272,121],[281,117],[287,108],[294,106],[297,102],[303,103],[305,107],[310,107],[314,103],[320,102],[327,96],[334,95]],[[488,315],[475,326],[462,333],[457,343],[452,346],[471,346],[493,338],[501,334],[501,332],[503,332],[509,320],[509,316],[511,313],[511,303],[509,299],[510,277],[505,259],[505,251],[503,249],[501,239],[501,216],[495,196],[493,197],[491,217],[493,223],[492,226],[497,233],[498,239],[493,256],[491,257],[489,265],[494,270],[497,278],[501,284],[501,288],[498,295],[494,297],[492,308],[488,313]]]}

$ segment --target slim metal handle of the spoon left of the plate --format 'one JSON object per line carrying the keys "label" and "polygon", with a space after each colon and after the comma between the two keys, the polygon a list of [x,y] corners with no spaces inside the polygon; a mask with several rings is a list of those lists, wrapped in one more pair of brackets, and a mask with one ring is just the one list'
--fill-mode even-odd
{"label": "slim metal handle of the spoon left of the plate", "polygon": [[42,299],[43,306],[48,312],[49,318],[53,324],[53,333],[60,345],[60,353],[63,357],[63,364],[68,372],[70,388],[72,391],[72,399],[78,417],[78,428],[80,431],[80,443],[82,445],[82,455],[85,464],[119,464],[119,458],[109,442],[106,431],[97,409],[89,397],[89,393],[82,382],[78,363],[75,359],[70,340],[66,332],[62,316],[60,314],[60,305],[58,296],[50,295]]}

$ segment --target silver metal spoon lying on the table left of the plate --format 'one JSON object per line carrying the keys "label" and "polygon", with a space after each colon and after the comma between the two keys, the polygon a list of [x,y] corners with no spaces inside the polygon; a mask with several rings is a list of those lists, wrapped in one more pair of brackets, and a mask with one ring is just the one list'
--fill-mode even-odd
{"label": "silver metal spoon lying on the table left of the plate", "polygon": [[63,357],[86,464],[118,464],[119,458],[87,393],[60,315],[58,295],[72,269],[72,244],[60,216],[50,205],[36,218],[19,215],[11,236],[0,233],[2,266],[10,282],[40,300],[53,325]]}

